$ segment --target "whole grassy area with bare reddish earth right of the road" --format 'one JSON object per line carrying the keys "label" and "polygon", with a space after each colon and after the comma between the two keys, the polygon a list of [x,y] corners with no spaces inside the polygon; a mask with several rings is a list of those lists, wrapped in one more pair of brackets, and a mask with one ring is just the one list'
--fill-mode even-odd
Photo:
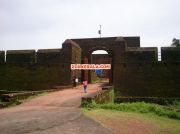
{"label": "whole grassy area with bare reddish earth right of the road", "polygon": [[180,102],[161,106],[144,102],[96,104],[83,108],[85,115],[115,133],[179,134]]}

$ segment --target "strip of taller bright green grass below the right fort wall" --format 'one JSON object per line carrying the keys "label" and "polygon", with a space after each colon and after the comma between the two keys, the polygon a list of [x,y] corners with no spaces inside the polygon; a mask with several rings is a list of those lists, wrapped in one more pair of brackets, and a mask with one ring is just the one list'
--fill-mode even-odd
{"label": "strip of taller bright green grass below the right fort wall", "polygon": [[[145,102],[120,103],[120,104],[114,104],[114,103],[96,104],[95,102],[93,102],[92,104],[85,105],[84,107],[88,109],[100,108],[100,109],[117,110],[123,112],[152,113],[158,116],[164,116],[164,117],[180,120],[180,112],[177,112],[174,109],[167,109],[166,107],[158,104],[151,104]],[[176,106],[174,105],[174,107]],[[179,107],[179,102],[177,107]]]}

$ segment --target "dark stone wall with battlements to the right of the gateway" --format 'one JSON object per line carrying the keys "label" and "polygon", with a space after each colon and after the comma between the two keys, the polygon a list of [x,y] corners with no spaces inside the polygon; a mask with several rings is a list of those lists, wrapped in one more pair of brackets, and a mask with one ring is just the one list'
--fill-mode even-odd
{"label": "dark stone wall with battlements to the right of the gateway", "polygon": [[162,61],[156,48],[134,49],[114,64],[116,97],[180,97],[180,49],[162,48]]}

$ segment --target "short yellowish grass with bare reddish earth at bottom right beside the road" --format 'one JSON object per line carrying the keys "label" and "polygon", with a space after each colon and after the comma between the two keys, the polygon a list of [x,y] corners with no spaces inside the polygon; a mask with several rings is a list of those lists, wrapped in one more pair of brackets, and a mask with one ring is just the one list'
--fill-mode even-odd
{"label": "short yellowish grass with bare reddish earth at bottom right beside the road", "polygon": [[153,113],[136,113],[112,109],[82,109],[83,113],[111,129],[115,134],[179,134],[180,121]]}

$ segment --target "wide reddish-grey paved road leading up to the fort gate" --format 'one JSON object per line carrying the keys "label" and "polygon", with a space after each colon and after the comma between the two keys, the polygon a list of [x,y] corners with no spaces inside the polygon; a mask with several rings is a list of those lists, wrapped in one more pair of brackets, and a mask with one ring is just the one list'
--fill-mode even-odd
{"label": "wide reddish-grey paved road leading up to the fort gate", "polygon": [[80,111],[81,97],[101,90],[90,84],[49,93],[23,104],[0,110],[0,134],[111,134]]}

